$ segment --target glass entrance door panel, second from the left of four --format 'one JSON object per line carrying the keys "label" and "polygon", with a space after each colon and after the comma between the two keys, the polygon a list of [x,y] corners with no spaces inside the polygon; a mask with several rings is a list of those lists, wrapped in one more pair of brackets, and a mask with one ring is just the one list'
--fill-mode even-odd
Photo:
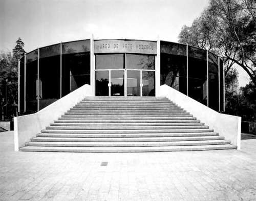
{"label": "glass entrance door panel, second from the left of four", "polygon": [[111,71],[111,96],[124,96],[124,71]]}

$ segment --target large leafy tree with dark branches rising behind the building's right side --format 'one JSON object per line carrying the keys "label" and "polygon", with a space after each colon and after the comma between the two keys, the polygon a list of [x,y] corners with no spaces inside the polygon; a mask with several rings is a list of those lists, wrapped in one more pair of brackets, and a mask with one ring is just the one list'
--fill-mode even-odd
{"label": "large leafy tree with dark branches rising behind the building's right side", "polygon": [[226,66],[225,74],[236,63],[256,86],[255,14],[255,0],[210,0],[193,25],[183,27],[179,42],[221,55]]}

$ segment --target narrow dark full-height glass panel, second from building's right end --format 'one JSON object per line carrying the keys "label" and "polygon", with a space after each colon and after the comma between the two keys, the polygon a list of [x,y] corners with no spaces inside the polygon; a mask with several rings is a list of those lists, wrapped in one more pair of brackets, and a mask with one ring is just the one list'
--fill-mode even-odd
{"label": "narrow dark full-height glass panel, second from building's right end", "polygon": [[218,56],[208,52],[209,107],[219,111]]}

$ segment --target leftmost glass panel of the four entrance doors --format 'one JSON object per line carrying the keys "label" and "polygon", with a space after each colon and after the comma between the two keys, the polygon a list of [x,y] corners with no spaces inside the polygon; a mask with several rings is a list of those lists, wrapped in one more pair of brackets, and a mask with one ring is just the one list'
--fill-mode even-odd
{"label": "leftmost glass panel of the four entrance doors", "polygon": [[109,71],[96,71],[96,96],[109,96]]}

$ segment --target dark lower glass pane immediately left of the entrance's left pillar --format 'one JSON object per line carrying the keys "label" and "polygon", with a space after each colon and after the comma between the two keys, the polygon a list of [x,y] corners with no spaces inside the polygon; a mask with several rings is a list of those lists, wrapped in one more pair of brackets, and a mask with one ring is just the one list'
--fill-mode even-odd
{"label": "dark lower glass pane immediately left of the entrance's left pillar", "polygon": [[90,53],[62,55],[62,97],[90,84]]}

